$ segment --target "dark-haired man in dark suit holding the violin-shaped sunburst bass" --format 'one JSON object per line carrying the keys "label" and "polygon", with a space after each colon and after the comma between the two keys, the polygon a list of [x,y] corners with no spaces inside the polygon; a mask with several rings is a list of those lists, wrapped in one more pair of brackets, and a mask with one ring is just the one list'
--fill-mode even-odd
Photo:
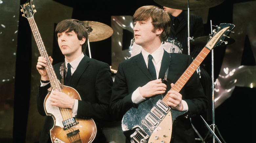
{"label": "dark-haired man in dark suit holding the violin-shaped sunburst bass", "polygon": [[[105,143],[106,138],[101,132],[100,122],[109,118],[109,103],[113,80],[107,63],[89,58],[83,54],[87,46],[88,33],[82,22],[74,19],[63,20],[57,24],[55,36],[59,48],[65,56],[64,63],[53,66],[58,79],[64,79],[64,85],[73,87],[79,93],[81,100],[72,99],[67,94],[59,91],[51,91],[49,96],[51,105],[60,108],[72,109],[73,117],[87,119],[92,118],[96,122],[97,134],[94,143]],[[50,57],[51,62],[53,59]],[[65,74],[61,75],[61,68],[68,72],[71,65],[71,77],[66,81]],[[44,99],[51,87],[46,71],[46,59],[38,58],[36,65],[41,74],[41,84],[37,96],[38,112],[46,116]],[[51,143],[50,129],[53,127],[53,118],[46,116],[40,143]]]}

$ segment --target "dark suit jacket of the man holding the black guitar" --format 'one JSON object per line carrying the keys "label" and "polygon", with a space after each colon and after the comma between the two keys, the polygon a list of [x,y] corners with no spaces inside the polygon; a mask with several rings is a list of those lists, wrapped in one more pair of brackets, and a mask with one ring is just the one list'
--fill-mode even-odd
{"label": "dark suit jacket of the man holding the black guitar", "polygon": [[[164,74],[169,67],[166,93],[171,88],[170,84],[176,83],[191,62],[191,56],[178,53],[168,54],[164,51],[159,78],[164,78]],[[121,120],[127,110],[131,107],[136,108],[136,104],[131,99],[132,93],[138,87],[147,84],[151,79],[152,77],[141,53],[122,61],[118,66],[112,89],[110,104],[111,116],[117,120]],[[207,99],[203,94],[203,88],[196,72],[181,89],[180,93],[182,100],[185,100],[188,104],[188,117],[196,116],[206,110]],[[173,127],[172,136],[174,137],[173,140],[177,143],[195,140],[189,118],[182,117],[178,119],[176,127]]]}

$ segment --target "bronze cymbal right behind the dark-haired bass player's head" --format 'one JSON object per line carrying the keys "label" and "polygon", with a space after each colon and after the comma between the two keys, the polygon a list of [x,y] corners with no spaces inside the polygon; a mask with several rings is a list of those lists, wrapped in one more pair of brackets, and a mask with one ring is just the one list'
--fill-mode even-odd
{"label": "bronze cymbal right behind the dark-haired bass player's head", "polygon": [[95,42],[109,38],[113,34],[113,29],[103,23],[94,21],[82,21],[89,33],[89,41]]}

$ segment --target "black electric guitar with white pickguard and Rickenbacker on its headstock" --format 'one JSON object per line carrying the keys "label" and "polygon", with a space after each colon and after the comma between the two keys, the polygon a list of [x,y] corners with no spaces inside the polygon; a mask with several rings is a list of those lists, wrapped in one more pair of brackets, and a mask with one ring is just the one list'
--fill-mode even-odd
{"label": "black electric guitar with white pickguard and Rickenbacker on its headstock", "polygon": [[[180,92],[192,74],[197,70],[212,48],[219,46],[235,27],[233,24],[220,24],[210,35],[206,46],[193,60],[179,80],[170,89]],[[169,143],[174,120],[187,111],[171,109],[168,105],[169,95],[163,98],[157,95],[139,103],[138,108],[130,108],[123,116],[122,131],[130,137],[131,143]]]}

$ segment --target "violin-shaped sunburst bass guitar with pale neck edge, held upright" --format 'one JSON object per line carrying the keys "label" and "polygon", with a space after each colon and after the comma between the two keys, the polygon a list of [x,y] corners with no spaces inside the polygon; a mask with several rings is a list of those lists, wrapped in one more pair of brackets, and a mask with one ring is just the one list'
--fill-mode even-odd
{"label": "violin-shaped sunburst bass guitar with pale neck edge, held upright", "polygon": [[[73,99],[81,100],[79,93],[72,87],[63,86],[56,77],[53,70],[50,58],[45,49],[41,35],[38,31],[37,25],[34,20],[34,5],[31,5],[31,0],[21,5],[22,16],[26,17],[32,29],[40,55],[47,60],[46,69],[50,78],[51,89],[57,89],[60,92],[66,93]],[[51,140],[53,143],[91,143],[96,136],[96,124],[93,119],[77,119],[72,117],[72,111],[68,108],[59,108],[52,106],[48,99],[48,94],[44,100],[44,109],[46,115],[52,116],[54,120],[53,128],[50,130]]]}

